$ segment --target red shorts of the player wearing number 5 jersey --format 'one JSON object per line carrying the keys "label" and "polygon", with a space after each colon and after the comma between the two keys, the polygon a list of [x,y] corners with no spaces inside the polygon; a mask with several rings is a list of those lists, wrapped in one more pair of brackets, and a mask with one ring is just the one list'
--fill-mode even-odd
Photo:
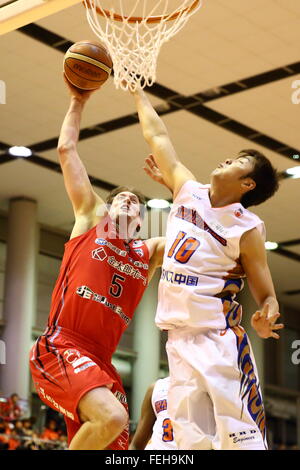
{"label": "red shorts of the player wearing number 5 jersey", "polygon": [[[112,385],[112,393],[128,412],[121,378],[111,364],[111,353],[77,333],[60,327],[48,328],[31,348],[30,369],[40,399],[64,415],[69,444],[82,425],[78,403],[89,390]],[[127,426],[109,449],[127,450],[128,437]]]}

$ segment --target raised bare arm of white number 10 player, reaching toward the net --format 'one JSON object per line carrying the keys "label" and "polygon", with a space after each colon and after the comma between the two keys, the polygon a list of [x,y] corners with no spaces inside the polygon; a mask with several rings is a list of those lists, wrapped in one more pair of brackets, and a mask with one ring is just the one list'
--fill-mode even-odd
{"label": "raised bare arm of white number 10 player, reaching toward the net", "polygon": [[144,138],[148,142],[151,152],[155,155],[163,179],[175,199],[182,185],[190,179],[195,180],[195,177],[179,161],[167,128],[144,91],[138,89],[134,96]]}

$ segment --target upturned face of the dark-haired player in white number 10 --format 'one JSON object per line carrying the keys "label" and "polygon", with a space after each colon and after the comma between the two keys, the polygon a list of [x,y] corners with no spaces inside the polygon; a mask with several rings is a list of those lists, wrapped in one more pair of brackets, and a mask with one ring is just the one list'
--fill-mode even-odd
{"label": "upturned face of the dark-haired player in white number 10", "polygon": [[236,158],[227,158],[219,163],[212,172],[213,177],[228,181],[238,181],[247,176],[254,168],[254,159],[250,155],[239,155]]}

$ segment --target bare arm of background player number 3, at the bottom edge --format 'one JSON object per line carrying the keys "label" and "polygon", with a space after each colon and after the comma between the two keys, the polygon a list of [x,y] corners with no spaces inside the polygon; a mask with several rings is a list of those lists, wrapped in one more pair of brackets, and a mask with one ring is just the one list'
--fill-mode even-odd
{"label": "bare arm of background player number 3, at the bottom edge", "polygon": [[142,404],[141,417],[131,441],[129,450],[144,450],[152,435],[152,429],[156,421],[156,416],[154,414],[151,402],[153,388],[154,384],[151,385],[146,392]]}

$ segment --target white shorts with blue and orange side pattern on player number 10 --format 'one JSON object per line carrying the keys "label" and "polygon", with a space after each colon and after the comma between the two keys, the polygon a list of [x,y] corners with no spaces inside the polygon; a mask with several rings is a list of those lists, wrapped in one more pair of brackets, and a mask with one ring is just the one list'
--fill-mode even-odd
{"label": "white shorts with blue and orange side pattern on player number 10", "polygon": [[265,412],[241,326],[169,331],[168,411],[180,450],[266,450]]}

